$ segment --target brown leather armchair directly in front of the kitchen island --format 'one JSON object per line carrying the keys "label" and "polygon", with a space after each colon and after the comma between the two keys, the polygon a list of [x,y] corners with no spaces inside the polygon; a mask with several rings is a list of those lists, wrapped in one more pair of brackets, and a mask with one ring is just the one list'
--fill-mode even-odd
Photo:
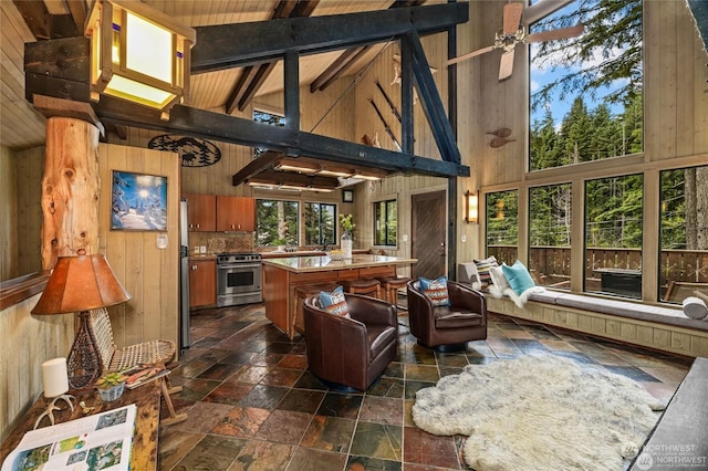
{"label": "brown leather armchair directly in front of the kitchen island", "polygon": [[366,390],[396,356],[396,307],[358,294],[345,299],[351,318],[324,311],[319,295],[304,300],[308,367],[332,388]]}

